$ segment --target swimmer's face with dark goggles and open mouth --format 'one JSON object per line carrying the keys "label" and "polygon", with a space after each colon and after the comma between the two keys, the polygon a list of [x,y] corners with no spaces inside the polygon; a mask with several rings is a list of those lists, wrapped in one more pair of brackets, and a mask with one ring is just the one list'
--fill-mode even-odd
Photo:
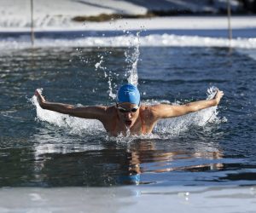
{"label": "swimmer's face with dark goggles and open mouth", "polygon": [[139,115],[139,107],[136,104],[125,102],[120,103],[117,109],[120,120],[125,123],[126,127],[131,128]]}

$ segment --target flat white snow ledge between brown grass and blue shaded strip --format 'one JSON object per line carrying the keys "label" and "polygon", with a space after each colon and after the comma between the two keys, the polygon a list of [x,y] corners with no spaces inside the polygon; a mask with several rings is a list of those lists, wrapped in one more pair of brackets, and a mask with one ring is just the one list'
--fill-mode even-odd
{"label": "flat white snow ledge between brown grass and blue shaded strip", "polygon": [[[3,20],[2,20],[3,21]],[[11,20],[9,20],[9,23]],[[25,23],[26,21],[24,21]],[[39,23],[40,22],[40,23]],[[26,32],[30,26],[16,22],[0,26],[1,32]],[[256,16],[235,16],[231,19],[232,29],[256,29]],[[35,23],[35,31],[120,31],[120,30],[224,30],[228,20],[224,16],[176,16],[143,19],[121,19],[103,22],[74,22],[72,20]]]}

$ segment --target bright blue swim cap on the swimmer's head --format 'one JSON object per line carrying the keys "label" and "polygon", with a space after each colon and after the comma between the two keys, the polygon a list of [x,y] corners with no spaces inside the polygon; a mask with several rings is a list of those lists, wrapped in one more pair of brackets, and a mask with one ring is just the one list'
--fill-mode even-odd
{"label": "bright blue swim cap on the swimmer's head", "polygon": [[131,83],[126,83],[119,88],[117,94],[118,103],[128,102],[139,106],[140,101],[141,95],[136,86],[132,85]]}

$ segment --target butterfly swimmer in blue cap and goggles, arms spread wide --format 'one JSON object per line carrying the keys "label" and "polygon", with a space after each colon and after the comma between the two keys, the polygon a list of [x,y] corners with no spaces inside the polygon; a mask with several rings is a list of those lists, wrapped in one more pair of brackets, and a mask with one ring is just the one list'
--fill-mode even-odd
{"label": "butterfly swimmer in blue cap and goggles, arms spread wide", "polygon": [[223,97],[223,91],[218,90],[212,100],[195,101],[188,104],[172,106],[169,104],[143,105],[136,86],[126,83],[119,88],[116,105],[74,107],[68,104],[45,101],[36,90],[38,103],[43,109],[61,112],[73,117],[97,119],[102,122],[110,135],[145,135],[152,132],[154,125],[162,118],[172,118],[196,112],[207,107],[217,106]]}

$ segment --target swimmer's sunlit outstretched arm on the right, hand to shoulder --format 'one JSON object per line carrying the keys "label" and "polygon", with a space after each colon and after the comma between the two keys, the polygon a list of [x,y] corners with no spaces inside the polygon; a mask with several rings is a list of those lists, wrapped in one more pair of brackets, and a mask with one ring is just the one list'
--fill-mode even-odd
{"label": "swimmer's sunlit outstretched arm on the right, hand to shoulder", "polygon": [[218,90],[217,94],[212,100],[195,101],[184,105],[172,106],[168,104],[160,104],[152,107],[154,118],[172,118],[188,114],[189,112],[197,112],[207,107],[218,106],[219,101],[223,97],[223,91]]}

